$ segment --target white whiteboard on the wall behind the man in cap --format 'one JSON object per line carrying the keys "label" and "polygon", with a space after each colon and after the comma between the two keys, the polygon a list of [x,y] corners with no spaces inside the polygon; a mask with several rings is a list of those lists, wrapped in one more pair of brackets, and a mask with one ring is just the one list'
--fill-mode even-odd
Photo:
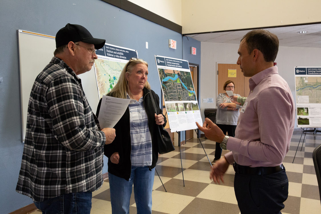
{"label": "white whiteboard on the wall behind the man in cap", "polygon": [[[18,30],[19,70],[20,70],[20,98],[21,98],[21,129],[24,142],[27,125],[27,110],[30,91],[38,74],[45,68],[54,56],[56,42],[54,36]],[[94,67],[91,71],[80,74],[82,87],[88,102],[96,113],[99,103]]]}

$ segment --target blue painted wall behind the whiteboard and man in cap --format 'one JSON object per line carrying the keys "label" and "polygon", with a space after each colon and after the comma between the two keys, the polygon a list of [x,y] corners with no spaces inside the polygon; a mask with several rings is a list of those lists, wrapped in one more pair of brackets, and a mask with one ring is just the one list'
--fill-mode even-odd
{"label": "blue painted wall behind the whiteboard and man in cap", "polygon": [[[1,214],[12,212],[32,203],[32,200],[27,196],[15,192],[23,150],[18,29],[55,36],[56,32],[66,23],[80,24],[86,27],[94,37],[106,39],[107,43],[136,49],[139,58],[149,63],[148,81],[151,83],[152,89],[159,95],[160,83],[154,55],[183,59],[187,57],[186,59],[189,60],[189,56],[183,50],[188,50],[190,47],[187,46],[191,41],[194,41],[190,39],[183,47],[182,43],[185,42],[185,39],[182,39],[181,34],[100,0],[2,0],[0,23],[0,47],[2,50],[0,52],[0,77],[3,77],[3,82],[0,82]],[[177,41],[176,50],[168,47],[168,39]],[[148,42],[148,49],[145,48],[145,42]],[[200,42],[195,46],[200,50]],[[32,56],[30,56],[30,60],[37,61]],[[189,61],[200,64],[200,56],[196,61]],[[107,166],[107,164],[105,165]],[[104,173],[107,172],[106,166]]]}

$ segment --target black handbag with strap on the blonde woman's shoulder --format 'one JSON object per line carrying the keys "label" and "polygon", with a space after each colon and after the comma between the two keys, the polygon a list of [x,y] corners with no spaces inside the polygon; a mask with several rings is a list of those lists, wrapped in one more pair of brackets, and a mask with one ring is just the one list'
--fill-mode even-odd
{"label": "black handbag with strap on the blonde woman's shoulder", "polygon": [[[151,96],[155,113],[156,115],[159,115],[154,98],[152,96],[152,92],[150,92],[149,95]],[[157,136],[155,139],[157,140],[158,153],[165,154],[175,150],[173,142],[170,139],[169,133],[164,129],[162,125],[158,125],[158,128],[155,129],[155,132],[153,134]]]}

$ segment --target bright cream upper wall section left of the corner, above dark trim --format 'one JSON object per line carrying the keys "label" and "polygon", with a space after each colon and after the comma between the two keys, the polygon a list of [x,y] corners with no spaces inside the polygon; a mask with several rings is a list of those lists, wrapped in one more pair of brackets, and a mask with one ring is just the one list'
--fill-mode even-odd
{"label": "bright cream upper wall section left of the corner, above dark trim", "polygon": [[[163,18],[182,25],[182,0],[128,0]],[[183,0],[184,1],[184,0]]]}

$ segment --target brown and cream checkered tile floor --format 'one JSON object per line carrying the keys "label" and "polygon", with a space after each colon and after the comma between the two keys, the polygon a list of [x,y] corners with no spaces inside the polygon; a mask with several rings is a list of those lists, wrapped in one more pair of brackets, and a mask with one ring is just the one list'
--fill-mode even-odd
{"label": "brown and cream checkered tile floor", "polygon": [[[321,144],[321,133],[307,133],[302,151],[300,151],[301,142],[294,163],[292,163],[300,136],[300,129],[293,133],[290,151],[283,161],[289,178],[289,197],[284,202],[283,214],[321,213],[317,177],[312,161],[314,148]],[[208,158],[212,161],[215,142],[205,139],[201,141]],[[225,152],[223,151],[223,154]],[[159,156],[156,170],[167,192],[155,173],[152,213],[239,214],[233,189],[233,167],[230,166],[224,175],[225,184],[217,185],[209,179],[211,166],[198,139],[188,140],[182,145],[181,155],[185,187],[183,186],[179,147],[173,152]],[[130,213],[136,213],[134,193],[130,204]],[[102,188],[93,192],[91,213],[111,213],[108,179]],[[34,214],[39,214],[39,211],[35,211]]]}

